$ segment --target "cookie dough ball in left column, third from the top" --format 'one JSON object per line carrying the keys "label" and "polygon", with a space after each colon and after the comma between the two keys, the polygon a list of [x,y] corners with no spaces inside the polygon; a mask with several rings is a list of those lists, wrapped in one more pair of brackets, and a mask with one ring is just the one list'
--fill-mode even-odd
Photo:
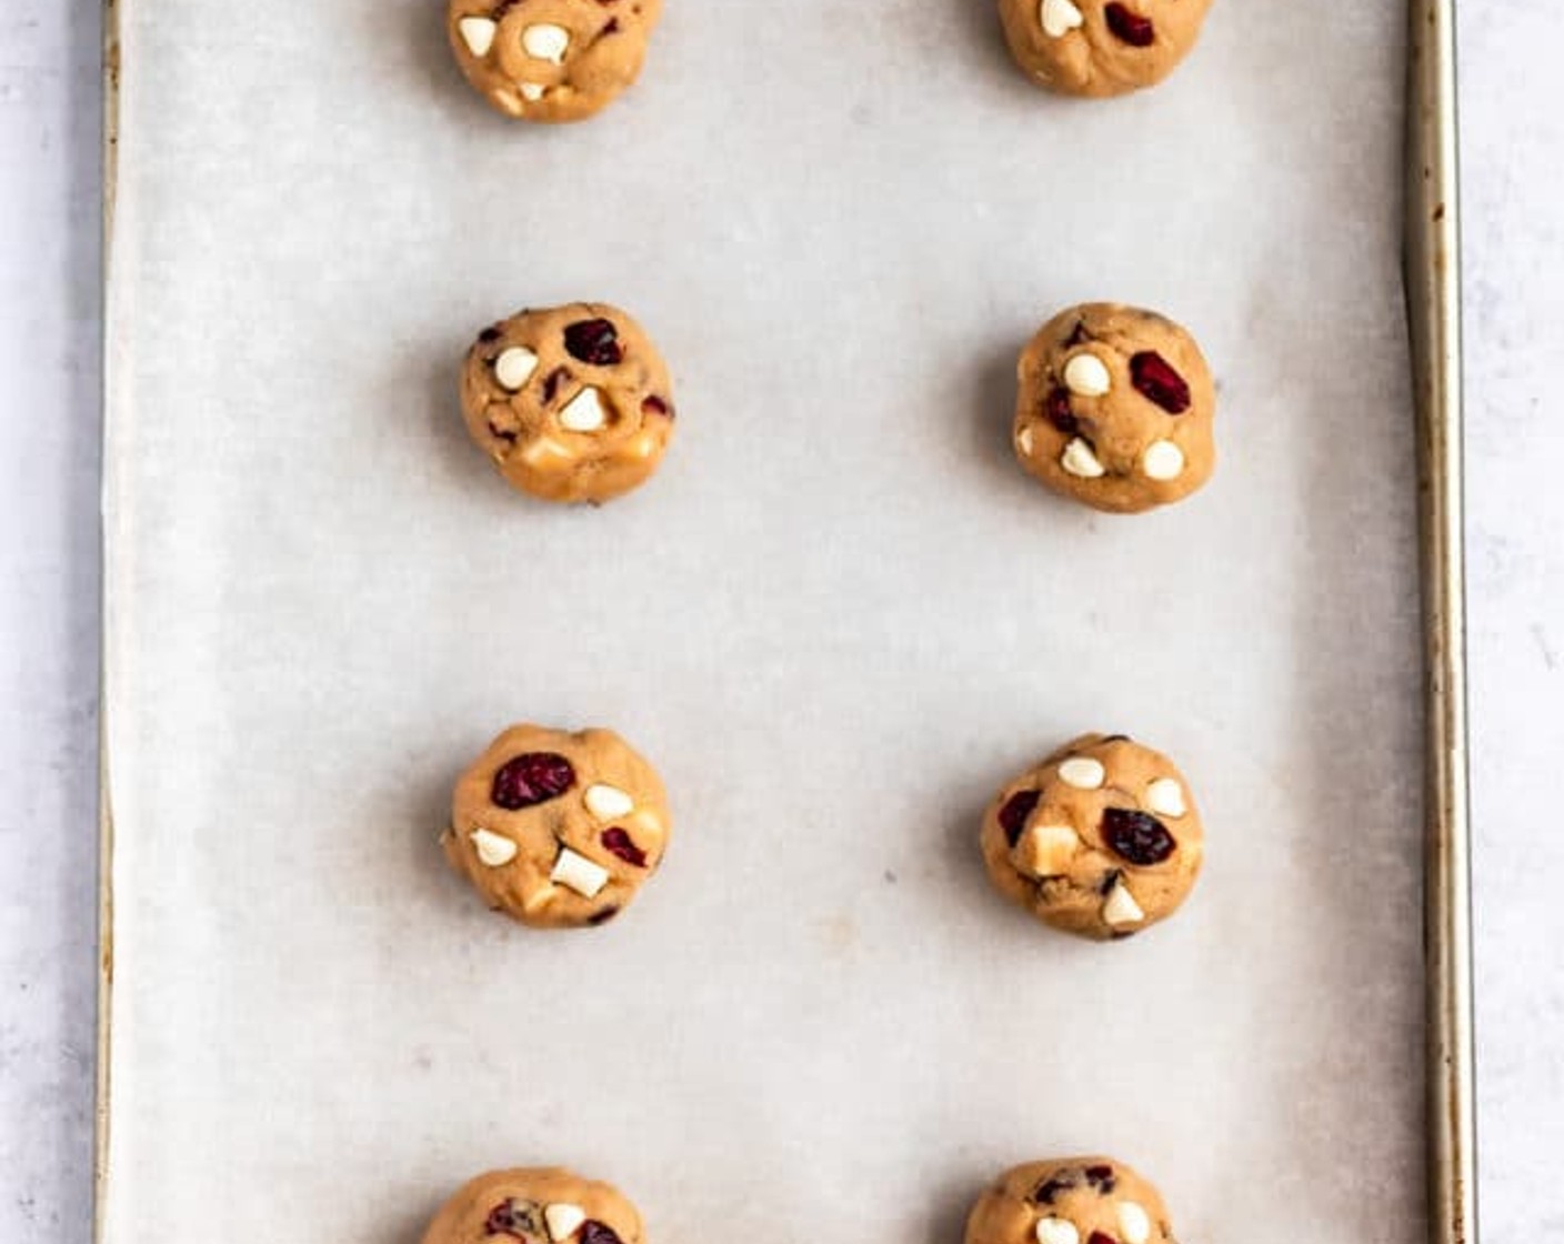
{"label": "cookie dough ball in left column, third from the top", "polygon": [[662,779],[618,734],[511,726],[457,782],[441,845],[494,911],[580,928],[630,904],[668,831]]}

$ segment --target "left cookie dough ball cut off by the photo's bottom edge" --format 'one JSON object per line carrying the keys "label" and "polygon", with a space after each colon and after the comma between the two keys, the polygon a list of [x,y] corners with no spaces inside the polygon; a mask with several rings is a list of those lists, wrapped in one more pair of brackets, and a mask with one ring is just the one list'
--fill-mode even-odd
{"label": "left cookie dough ball cut off by the photo's bottom edge", "polygon": [[569,1170],[493,1170],[461,1188],[424,1244],[641,1244],[641,1216],[607,1183]]}

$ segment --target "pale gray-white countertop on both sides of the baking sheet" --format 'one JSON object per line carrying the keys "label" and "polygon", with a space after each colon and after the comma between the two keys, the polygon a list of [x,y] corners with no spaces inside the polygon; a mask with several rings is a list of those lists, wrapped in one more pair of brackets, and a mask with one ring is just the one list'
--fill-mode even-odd
{"label": "pale gray-white countertop on both sides of the baking sheet", "polygon": [[[1473,14],[1481,14],[1476,17]],[[1564,1238],[1556,0],[1461,30],[1483,1224]],[[0,14],[0,1239],[91,1236],[99,14]],[[1387,487],[1395,487],[1387,484]]]}

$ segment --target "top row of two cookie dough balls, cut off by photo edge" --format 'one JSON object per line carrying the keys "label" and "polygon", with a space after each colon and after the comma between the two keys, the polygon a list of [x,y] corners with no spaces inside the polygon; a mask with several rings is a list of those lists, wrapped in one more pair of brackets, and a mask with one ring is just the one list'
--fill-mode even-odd
{"label": "top row of two cookie dough balls, cut off by photo edge", "polygon": [[[522,120],[583,120],[635,81],[662,0],[450,0],[468,81]],[[1028,77],[1070,95],[1162,81],[1200,38],[1211,0],[999,0]]]}

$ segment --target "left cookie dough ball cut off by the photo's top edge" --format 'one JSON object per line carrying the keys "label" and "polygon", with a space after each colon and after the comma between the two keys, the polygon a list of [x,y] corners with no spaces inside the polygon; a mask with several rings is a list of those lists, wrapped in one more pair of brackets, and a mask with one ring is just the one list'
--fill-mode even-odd
{"label": "left cookie dough ball cut off by the photo's top edge", "polygon": [[663,0],[450,0],[468,81],[524,120],[582,120],[635,81]]}

